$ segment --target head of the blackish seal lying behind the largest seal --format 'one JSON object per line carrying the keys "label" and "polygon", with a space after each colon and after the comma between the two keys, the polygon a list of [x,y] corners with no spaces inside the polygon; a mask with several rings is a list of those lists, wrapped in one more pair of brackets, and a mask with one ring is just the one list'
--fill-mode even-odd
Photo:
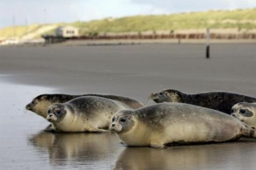
{"label": "head of the blackish seal lying behind the largest seal", "polygon": [[151,94],[151,99],[155,101],[155,103],[163,103],[163,102],[182,102],[183,93],[174,90],[174,89],[165,89],[160,92]]}

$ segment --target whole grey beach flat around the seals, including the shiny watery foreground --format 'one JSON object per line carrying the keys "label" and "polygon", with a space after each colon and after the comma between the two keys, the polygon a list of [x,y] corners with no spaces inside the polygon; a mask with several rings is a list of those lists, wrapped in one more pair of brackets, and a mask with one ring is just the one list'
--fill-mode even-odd
{"label": "whole grey beach flat around the seals, including the shiny watery foreground", "polygon": [[255,169],[256,140],[127,148],[114,134],[51,134],[24,107],[45,93],[126,95],[225,90],[256,97],[255,44],[0,48],[0,169]]}

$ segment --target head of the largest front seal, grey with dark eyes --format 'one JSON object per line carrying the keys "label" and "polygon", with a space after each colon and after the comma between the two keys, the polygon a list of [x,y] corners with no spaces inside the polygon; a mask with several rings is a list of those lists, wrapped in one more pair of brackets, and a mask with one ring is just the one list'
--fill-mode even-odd
{"label": "head of the largest front seal, grey with dark eyes", "polygon": [[130,131],[134,125],[135,119],[133,118],[132,110],[121,110],[113,116],[109,130],[119,134]]}

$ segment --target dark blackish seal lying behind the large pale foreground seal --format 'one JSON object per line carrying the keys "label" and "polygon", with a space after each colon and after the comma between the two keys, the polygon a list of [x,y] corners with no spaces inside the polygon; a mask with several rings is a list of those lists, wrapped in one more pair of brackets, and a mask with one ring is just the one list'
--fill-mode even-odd
{"label": "dark blackish seal lying behind the large pale foreground seal", "polygon": [[204,92],[200,94],[185,94],[174,89],[165,89],[151,94],[155,103],[176,102],[207,107],[230,114],[233,105],[240,102],[254,103],[256,98],[231,92]]}

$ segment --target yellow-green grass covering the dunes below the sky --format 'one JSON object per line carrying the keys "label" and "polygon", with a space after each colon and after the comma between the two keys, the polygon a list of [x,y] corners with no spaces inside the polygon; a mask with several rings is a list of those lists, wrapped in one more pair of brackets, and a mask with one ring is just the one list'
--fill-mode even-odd
{"label": "yellow-green grass covering the dunes below the sky", "polygon": [[[89,22],[69,24],[79,28],[80,35],[88,33],[144,32],[182,29],[256,29],[256,8],[243,10],[218,10],[208,12],[177,13],[171,15],[129,16],[108,18]],[[6,27],[0,30],[0,37],[18,37],[33,32],[44,25]],[[54,30],[51,31],[54,33]]]}

